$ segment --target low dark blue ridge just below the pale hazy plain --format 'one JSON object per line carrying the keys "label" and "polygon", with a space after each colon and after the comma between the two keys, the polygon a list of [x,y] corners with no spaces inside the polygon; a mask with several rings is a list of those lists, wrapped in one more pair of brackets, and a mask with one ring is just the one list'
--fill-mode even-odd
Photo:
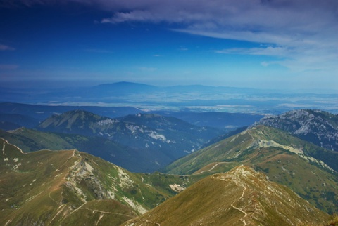
{"label": "low dark blue ridge just below the pale hazy plain", "polygon": [[[136,107],[49,106],[4,102],[0,103],[0,122],[16,125],[10,129],[18,128],[18,126],[35,128],[38,126],[39,122],[44,121],[54,114],[63,114],[74,110],[84,110],[109,118],[124,117],[129,114],[138,113],[160,114],[165,117],[182,119],[183,121],[187,121],[196,126],[220,128],[225,131],[230,131],[242,126],[249,126],[263,118],[262,114],[199,112],[187,108],[180,110],[142,110]],[[5,127],[0,128],[7,130]]]}

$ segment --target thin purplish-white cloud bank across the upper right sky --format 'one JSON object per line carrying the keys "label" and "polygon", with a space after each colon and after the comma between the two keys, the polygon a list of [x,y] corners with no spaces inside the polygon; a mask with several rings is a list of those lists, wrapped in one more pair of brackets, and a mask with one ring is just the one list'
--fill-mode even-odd
{"label": "thin purplish-white cloud bank across the upper right sky", "polygon": [[161,22],[175,32],[267,44],[217,53],[277,56],[284,58],[281,65],[294,70],[338,69],[337,0],[61,0],[68,1],[112,12],[102,23]]}

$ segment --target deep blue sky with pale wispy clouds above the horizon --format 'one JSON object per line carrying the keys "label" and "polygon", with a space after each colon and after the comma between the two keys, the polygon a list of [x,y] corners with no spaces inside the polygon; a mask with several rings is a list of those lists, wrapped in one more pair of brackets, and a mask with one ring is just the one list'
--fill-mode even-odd
{"label": "deep blue sky with pale wispy clouds above the horizon", "polygon": [[0,0],[1,84],[117,81],[337,91],[338,1]]}

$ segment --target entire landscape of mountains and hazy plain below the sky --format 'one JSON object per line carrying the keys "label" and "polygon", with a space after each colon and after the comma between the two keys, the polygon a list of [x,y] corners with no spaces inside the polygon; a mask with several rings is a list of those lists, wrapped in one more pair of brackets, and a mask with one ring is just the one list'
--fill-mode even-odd
{"label": "entire landscape of mountains and hazy plain below the sky", "polygon": [[0,94],[1,225],[337,225],[335,93]]}

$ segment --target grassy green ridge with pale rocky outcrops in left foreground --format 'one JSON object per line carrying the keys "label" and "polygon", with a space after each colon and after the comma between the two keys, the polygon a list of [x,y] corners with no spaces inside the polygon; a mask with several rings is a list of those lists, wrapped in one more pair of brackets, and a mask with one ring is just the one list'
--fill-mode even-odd
{"label": "grassy green ridge with pale rocky outcrops in left foreground", "polygon": [[194,182],[130,173],[75,149],[24,154],[0,142],[0,225],[119,225]]}

